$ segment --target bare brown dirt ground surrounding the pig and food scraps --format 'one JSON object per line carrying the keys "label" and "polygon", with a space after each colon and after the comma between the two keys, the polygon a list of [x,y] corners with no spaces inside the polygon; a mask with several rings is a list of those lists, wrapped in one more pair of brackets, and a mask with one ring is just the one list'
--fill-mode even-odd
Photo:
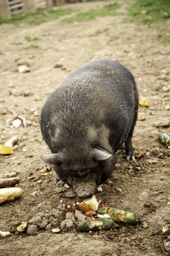
{"label": "bare brown dirt ground surrounding the pig and food scraps", "polygon": [[[118,11],[125,12],[127,2],[120,2],[122,7]],[[85,10],[105,3],[109,2],[72,6]],[[42,140],[39,117],[48,94],[62,79],[96,58],[112,58],[124,64],[136,79],[140,100],[150,103],[150,108],[139,107],[133,136],[135,152],[147,154],[127,163],[125,148],[121,148],[117,152],[112,183],[105,184],[103,191],[96,193],[102,204],[108,201],[117,209],[135,212],[139,224],[133,227],[119,223],[112,231],[94,233],[79,233],[75,229],[57,234],[38,230],[34,236],[13,234],[0,239],[0,256],[14,253],[18,256],[169,255],[164,244],[170,237],[164,236],[161,229],[170,224],[170,150],[157,138],[162,131],[170,134],[170,128],[155,127],[153,123],[161,119],[170,121],[170,44],[161,44],[156,39],[159,31],[154,26],[122,23],[124,17],[96,17],[87,22],[60,25],[62,17],[38,26],[0,26],[0,49],[6,52],[0,55],[0,143],[4,144],[14,135],[19,137],[14,154],[0,155],[0,177],[16,172],[20,177],[16,186],[23,189],[20,199],[0,206],[0,230],[10,231],[15,223],[28,221],[37,212],[57,209],[61,199],[62,204],[76,203],[71,188],[63,193],[56,192],[57,177],[52,166],[48,176],[40,177],[40,171],[48,166],[40,155],[48,153],[49,149]],[[160,24],[170,26],[170,20]],[[91,36],[96,30],[101,33]],[[40,40],[25,41],[28,35],[40,35]],[[22,44],[12,44],[14,42]],[[30,64],[31,72],[18,73],[19,58]],[[62,67],[54,68],[58,62]],[[24,116],[27,127],[6,126],[6,119],[12,115],[10,110]],[[141,121],[143,117],[146,119]],[[37,183],[40,179],[42,183]],[[31,193],[35,191],[34,197]]]}

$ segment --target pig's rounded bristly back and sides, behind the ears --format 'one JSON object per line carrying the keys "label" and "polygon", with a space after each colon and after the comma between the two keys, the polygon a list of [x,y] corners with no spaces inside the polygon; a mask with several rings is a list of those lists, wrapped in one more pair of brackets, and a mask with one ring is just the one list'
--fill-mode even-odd
{"label": "pig's rounded bristly back and sides, behind the ears", "polygon": [[116,151],[130,131],[136,104],[138,93],[129,70],[109,59],[90,61],[48,97],[40,119],[42,135],[52,152],[68,145],[93,147],[102,143],[99,138]]}

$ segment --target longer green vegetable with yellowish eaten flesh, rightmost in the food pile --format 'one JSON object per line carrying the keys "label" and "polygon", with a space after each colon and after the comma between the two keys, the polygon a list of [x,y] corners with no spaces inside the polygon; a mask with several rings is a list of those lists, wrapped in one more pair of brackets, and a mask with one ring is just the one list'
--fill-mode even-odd
{"label": "longer green vegetable with yellowish eaten flesh, rightmost in the food pile", "polygon": [[136,225],[138,222],[137,219],[134,217],[134,213],[125,212],[111,207],[99,208],[97,210],[97,213],[101,215],[108,214],[111,217],[115,218],[116,221],[123,221],[130,225]]}

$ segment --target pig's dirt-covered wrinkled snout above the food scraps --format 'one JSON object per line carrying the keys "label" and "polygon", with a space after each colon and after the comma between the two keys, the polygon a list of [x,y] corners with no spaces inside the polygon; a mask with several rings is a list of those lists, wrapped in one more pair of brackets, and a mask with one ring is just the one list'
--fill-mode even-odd
{"label": "pig's dirt-covered wrinkled snout above the food scraps", "polygon": [[77,196],[81,199],[89,198],[94,195],[97,188],[96,181],[90,174],[79,179],[74,177],[72,186]]}

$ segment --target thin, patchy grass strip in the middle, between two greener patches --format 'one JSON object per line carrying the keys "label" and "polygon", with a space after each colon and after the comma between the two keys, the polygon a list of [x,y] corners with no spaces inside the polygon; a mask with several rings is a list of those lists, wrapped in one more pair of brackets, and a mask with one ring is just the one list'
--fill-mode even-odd
{"label": "thin, patchy grass strip in the middle, between two greener patches", "polygon": [[[87,12],[80,12],[75,17],[63,19],[61,21],[62,24],[66,23],[74,23],[80,21],[88,21],[94,19],[96,16],[104,17],[104,16],[112,16],[112,15],[120,15],[120,13],[115,12],[115,9],[121,6],[120,3],[112,2],[103,8],[100,9],[92,9]],[[122,14],[122,13],[121,13]]]}

